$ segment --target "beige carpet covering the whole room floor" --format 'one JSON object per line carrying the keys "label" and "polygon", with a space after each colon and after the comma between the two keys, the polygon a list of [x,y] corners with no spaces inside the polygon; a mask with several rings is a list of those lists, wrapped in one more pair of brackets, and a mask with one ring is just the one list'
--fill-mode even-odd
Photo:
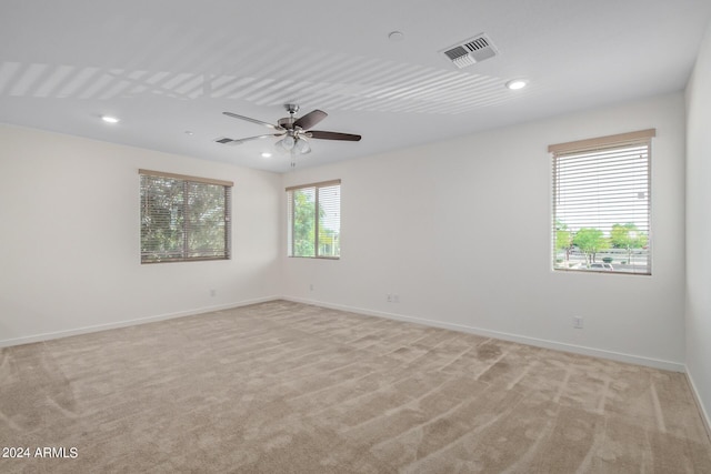
{"label": "beige carpet covering the whole room floor", "polygon": [[711,473],[682,374],[284,301],[3,349],[0,389],[2,473]]}

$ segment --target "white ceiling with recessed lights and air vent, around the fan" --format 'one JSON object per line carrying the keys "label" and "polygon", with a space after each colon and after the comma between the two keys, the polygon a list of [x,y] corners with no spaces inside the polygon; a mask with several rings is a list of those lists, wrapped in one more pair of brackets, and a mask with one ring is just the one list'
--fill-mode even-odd
{"label": "white ceiling with recessed lights and air vent, around the fan", "polygon": [[[284,172],[260,155],[276,139],[214,143],[270,132],[222,112],[296,102],[363,135],[312,140],[298,165],[323,164],[682,90],[710,19],[709,0],[2,0],[0,121]],[[482,32],[497,57],[442,54]]]}

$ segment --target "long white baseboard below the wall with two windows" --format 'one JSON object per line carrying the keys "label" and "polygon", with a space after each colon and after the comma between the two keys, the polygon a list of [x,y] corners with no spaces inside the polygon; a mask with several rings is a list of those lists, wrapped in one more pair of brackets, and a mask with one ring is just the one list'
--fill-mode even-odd
{"label": "long white baseboard below the wall with two windows", "polygon": [[658,359],[643,357],[640,355],[624,354],[614,351],[605,351],[601,349],[587,347],[583,345],[568,344],[543,339],[523,336],[519,334],[510,334],[499,331],[490,331],[481,327],[468,326],[463,324],[445,323],[441,321],[428,320],[422,317],[407,316],[403,314],[387,313],[382,311],[365,310],[362,307],[346,306],[342,304],[332,304],[323,301],[299,299],[283,296],[283,300],[297,303],[313,304],[316,306],[330,307],[332,310],[350,311],[352,313],[364,314],[369,316],[387,317],[390,320],[407,321],[411,323],[423,324],[428,326],[442,327],[447,330],[461,331],[471,334],[482,335],[485,337],[501,339],[504,341],[518,342],[521,344],[533,345],[537,347],[552,349],[555,351],[572,352],[574,354],[590,355],[593,357],[609,359],[618,362],[627,362],[630,364],[644,365],[648,367],[661,369],[672,372],[685,372],[685,365],[678,362],[662,361]]}

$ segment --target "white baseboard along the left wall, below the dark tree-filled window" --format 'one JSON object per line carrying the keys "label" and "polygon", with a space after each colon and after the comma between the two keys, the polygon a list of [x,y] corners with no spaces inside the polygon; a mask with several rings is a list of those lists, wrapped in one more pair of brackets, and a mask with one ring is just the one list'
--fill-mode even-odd
{"label": "white baseboard along the left wall, below the dark tree-filled window", "polygon": [[92,332],[113,330],[118,327],[133,326],[138,324],[154,323],[157,321],[172,320],[176,317],[192,316],[194,314],[211,313],[214,311],[229,310],[231,307],[248,306],[250,304],[264,303],[267,301],[279,300],[280,296],[267,296],[254,300],[240,301],[236,303],[220,304],[216,306],[204,306],[194,310],[179,311],[176,313],[159,314],[156,316],[138,317],[133,320],[118,321],[107,324],[97,324],[91,326],[74,327],[66,331],[57,331],[50,333],[33,334],[23,337],[0,340],[0,347],[9,347],[11,345],[31,344],[33,342],[49,341],[52,339],[69,337],[72,335],[87,334]]}

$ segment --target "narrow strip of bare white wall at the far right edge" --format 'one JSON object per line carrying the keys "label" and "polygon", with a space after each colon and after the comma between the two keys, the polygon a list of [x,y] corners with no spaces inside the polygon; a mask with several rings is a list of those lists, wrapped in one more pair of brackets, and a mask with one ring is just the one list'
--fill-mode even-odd
{"label": "narrow strip of bare white wall at the far right edge", "polygon": [[711,24],[687,88],[687,370],[711,425]]}

